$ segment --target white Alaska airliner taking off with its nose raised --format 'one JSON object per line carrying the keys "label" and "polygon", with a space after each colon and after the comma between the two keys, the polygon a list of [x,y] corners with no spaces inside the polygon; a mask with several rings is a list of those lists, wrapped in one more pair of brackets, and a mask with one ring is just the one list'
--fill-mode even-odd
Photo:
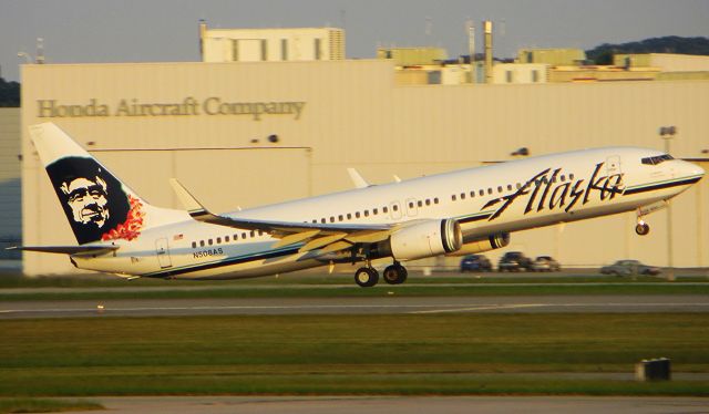
{"label": "white Alaska airliner taking off with its nose raised", "polygon": [[216,215],[176,179],[184,210],[148,204],[53,123],[30,136],[76,238],[75,246],[24,246],[69,255],[80,269],[129,279],[238,279],[336,263],[372,287],[372,260],[400,284],[402,262],[499,249],[514,231],[636,211],[645,216],[699,182],[705,170],[671,155],[604,147],[542,155],[371,185]]}

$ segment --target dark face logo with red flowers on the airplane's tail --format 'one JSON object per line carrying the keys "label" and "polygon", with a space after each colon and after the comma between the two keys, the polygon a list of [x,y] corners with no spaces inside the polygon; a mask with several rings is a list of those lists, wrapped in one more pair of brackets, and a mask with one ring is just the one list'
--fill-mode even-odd
{"label": "dark face logo with red flowers on the airplane's tail", "polygon": [[79,244],[140,235],[140,200],[94,159],[64,157],[50,164],[47,173]]}

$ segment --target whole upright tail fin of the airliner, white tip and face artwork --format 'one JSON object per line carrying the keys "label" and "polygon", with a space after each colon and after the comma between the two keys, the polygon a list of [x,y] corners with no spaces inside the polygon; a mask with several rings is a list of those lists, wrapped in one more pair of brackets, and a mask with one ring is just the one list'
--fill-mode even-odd
{"label": "whole upright tail fin of the airliner, white tip and face artwork", "polygon": [[30,126],[30,136],[80,245],[141,235],[155,207],[53,123]]}

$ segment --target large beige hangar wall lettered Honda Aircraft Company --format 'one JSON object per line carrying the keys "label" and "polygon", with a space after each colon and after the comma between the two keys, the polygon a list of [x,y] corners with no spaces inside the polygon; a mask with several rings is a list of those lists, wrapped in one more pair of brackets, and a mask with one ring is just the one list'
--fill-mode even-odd
{"label": "large beige hangar wall lettered Honda Aircraft Company", "polygon": [[[512,159],[520,147],[531,155],[662,148],[660,125],[678,127],[676,156],[702,157],[708,147],[707,81],[404,86],[392,62],[364,60],[24,65],[22,79],[28,245],[74,242],[27,136],[38,122],[55,122],[152,203],[178,207],[166,183],[175,175],[217,211],[352,188],[347,167],[383,183]],[[217,102],[232,112],[220,114]],[[155,104],[184,113],[163,114]],[[224,148],[216,165],[201,155]],[[698,224],[708,182],[672,210],[677,266],[709,266],[709,231]],[[629,214],[514,234],[511,248],[568,266],[624,257],[665,265],[664,214],[648,217],[644,238]],[[24,265],[29,273],[72,270],[52,255],[25,253]]]}

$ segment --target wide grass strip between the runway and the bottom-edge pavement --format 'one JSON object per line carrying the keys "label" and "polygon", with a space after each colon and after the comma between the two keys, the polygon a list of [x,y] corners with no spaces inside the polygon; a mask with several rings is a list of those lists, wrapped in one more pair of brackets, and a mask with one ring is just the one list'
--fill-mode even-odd
{"label": "wide grass strip between the runway and the bottom-edge pavement", "polygon": [[253,315],[0,321],[0,395],[709,395],[701,313]]}

